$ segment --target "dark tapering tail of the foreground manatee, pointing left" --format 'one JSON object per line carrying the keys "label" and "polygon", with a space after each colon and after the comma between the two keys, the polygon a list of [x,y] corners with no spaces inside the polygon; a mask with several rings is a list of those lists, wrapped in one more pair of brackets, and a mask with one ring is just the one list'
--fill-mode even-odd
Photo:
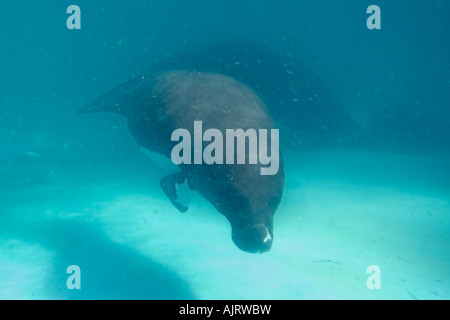
{"label": "dark tapering tail of the foreground manatee, pointing left", "polygon": [[126,117],[136,99],[149,94],[153,85],[154,77],[139,76],[84,105],[77,110],[77,114],[113,112]]}

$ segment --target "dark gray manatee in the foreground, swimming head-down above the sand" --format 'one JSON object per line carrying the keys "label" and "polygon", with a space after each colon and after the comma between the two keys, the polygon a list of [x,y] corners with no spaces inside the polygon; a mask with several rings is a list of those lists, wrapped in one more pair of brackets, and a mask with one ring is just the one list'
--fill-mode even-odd
{"label": "dark gray manatee in the foreground, swimming head-down above the sand", "polygon": [[[242,83],[219,74],[172,71],[131,80],[94,100],[78,111],[110,111],[124,115],[136,142],[145,149],[170,158],[176,142],[175,129],[189,130],[194,137],[194,121],[203,130],[273,129],[264,104]],[[270,137],[270,134],[269,134]],[[247,155],[248,156],[248,155]],[[181,164],[180,173],[161,180],[172,203],[177,189],[187,182],[225,215],[232,226],[234,243],[247,252],[270,249],[273,215],[284,190],[284,167],[280,156],[274,175],[261,175],[258,164]]]}

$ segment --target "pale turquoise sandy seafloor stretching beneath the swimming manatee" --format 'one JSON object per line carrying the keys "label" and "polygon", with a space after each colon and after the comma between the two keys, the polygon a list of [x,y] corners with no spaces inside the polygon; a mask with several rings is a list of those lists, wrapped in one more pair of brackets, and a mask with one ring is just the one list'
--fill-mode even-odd
{"label": "pale turquoise sandy seafloor stretching beneath the swimming manatee", "polygon": [[[261,255],[237,249],[201,196],[178,212],[151,165],[4,185],[0,299],[450,299],[446,156],[327,150],[285,162]],[[72,264],[80,290],[66,287]],[[367,288],[370,265],[379,290]]]}

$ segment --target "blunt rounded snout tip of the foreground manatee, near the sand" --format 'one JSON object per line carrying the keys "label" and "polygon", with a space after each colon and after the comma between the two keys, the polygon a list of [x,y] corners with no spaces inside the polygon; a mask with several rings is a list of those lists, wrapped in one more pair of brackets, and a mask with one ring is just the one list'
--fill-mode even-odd
{"label": "blunt rounded snout tip of the foreground manatee, near the sand", "polygon": [[232,233],[234,244],[249,253],[263,253],[272,247],[272,233],[263,224],[255,224]]}

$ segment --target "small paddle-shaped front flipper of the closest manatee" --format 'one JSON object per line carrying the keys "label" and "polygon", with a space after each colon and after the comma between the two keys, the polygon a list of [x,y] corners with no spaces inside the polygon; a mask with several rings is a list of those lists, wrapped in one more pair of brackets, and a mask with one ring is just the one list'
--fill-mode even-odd
{"label": "small paddle-shaped front flipper of the closest manatee", "polygon": [[192,191],[183,172],[165,176],[161,179],[160,185],[175,208],[181,212],[186,212],[189,209]]}

